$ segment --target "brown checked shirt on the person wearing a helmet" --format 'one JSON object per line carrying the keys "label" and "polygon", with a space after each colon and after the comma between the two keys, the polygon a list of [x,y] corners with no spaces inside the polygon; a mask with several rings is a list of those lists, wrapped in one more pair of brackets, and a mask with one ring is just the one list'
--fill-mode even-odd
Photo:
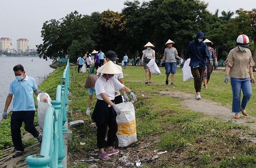
{"label": "brown checked shirt on the person wearing a helmet", "polygon": [[224,62],[224,66],[230,66],[230,78],[249,78],[249,67],[254,66],[252,54],[249,49],[245,51],[239,50],[239,47],[233,48],[228,54],[228,58]]}

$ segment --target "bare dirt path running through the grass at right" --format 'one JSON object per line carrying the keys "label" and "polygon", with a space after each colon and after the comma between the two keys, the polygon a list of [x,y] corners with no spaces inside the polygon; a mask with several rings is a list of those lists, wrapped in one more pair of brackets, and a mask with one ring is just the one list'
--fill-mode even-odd
{"label": "bare dirt path running through the grass at right", "polygon": [[[220,103],[212,102],[202,97],[201,100],[197,100],[194,98],[194,94],[179,92],[176,90],[173,91],[161,91],[160,94],[165,94],[167,96],[171,96],[173,98],[178,98],[183,107],[189,110],[193,110],[196,112],[201,112],[203,114],[207,114],[212,117],[220,118],[224,121],[236,122],[238,124],[243,124],[249,126],[248,136],[240,137],[246,138],[254,143],[256,143],[256,138],[250,137],[249,133],[256,131],[255,121],[256,118],[250,116],[250,112],[248,116],[244,116],[242,113],[240,114],[240,119],[234,119],[235,114],[232,113],[231,107],[228,108],[226,106],[221,105]],[[246,109],[245,109],[246,110]],[[239,131],[239,130],[237,130]]]}

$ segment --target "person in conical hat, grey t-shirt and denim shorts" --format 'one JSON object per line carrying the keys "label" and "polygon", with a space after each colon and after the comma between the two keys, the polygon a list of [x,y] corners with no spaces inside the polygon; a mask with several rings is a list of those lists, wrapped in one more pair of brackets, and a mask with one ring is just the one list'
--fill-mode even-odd
{"label": "person in conical hat, grey t-shirt and denim shorts", "polygon": [[166,80],[165,80],[165,84],[168,85],[169,84],[169,75],[172,74],[172,78],[171,78],[171,85],[174,85],[174,75],[176,73],[176,69],[177,69],[177,63],[176,63],[176,58],[177,59],[181,59],[178,56],[178,52],[176,50],[176,48],[173,47],[173,44],[175,42],[173,42],[172,40],[168,40],[165,45],[168,46],[167,48],[165,48],[164,50],[164,56],[163,59],[160,63],[160,66],[163,64],[165,58],[165,74],[166,74]]}

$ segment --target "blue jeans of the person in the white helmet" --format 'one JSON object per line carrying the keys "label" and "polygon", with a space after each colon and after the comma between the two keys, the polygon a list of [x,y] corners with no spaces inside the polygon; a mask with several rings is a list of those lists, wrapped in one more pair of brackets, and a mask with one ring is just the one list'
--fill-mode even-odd
{"label": "blue jeans of the person in the white helmet", "polygon": [[[230,84],[233,93],[232,112],[240,113],[240,106],[245,110],[245,106],[252,95],[252,86],[250,83],[250,78],[230,78]],[[243,98],[240,104],[241,90],[243,91]]]}

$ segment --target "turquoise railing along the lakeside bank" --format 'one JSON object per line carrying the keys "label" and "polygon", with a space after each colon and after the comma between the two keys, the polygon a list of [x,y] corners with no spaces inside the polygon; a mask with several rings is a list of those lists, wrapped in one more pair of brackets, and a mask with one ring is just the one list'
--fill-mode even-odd
{"label": "turquoise railing along the lakeside bank", "polygon": [[28,168],[64,168],[62,160],[66,156],[63,132],[67,129],[64,123],[69,87],[69,60],[61,78],[62,85],[57,86],[56,100],[51,101],[45,113],[43,139],[40,154],[26,158]]}

